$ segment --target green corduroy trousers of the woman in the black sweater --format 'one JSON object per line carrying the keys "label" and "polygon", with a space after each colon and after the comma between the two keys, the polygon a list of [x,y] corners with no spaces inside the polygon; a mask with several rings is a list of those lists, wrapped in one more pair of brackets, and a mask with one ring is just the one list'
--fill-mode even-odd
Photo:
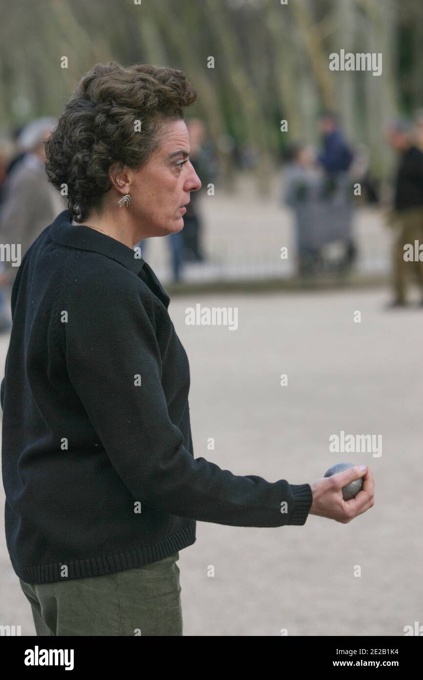
{"label": "green corduroy trousers of the woman in the black sweater", "polygon": [[179,552],[113,574],[25,583],[37,636],[183,635]]}

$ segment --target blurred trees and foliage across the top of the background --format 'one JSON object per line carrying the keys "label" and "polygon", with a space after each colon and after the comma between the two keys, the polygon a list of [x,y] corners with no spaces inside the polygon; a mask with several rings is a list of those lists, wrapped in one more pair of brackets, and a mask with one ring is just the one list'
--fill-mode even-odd
{"label": "blurred trees and foliage across the top of the background", "polygon": [[[384,122],[423,106],[421,0],[0,0],[0,12],[3,130],[60,115],[94,63],[169,65],[198,90],[187,117],[204,118],[217,146],[229,132],[257,152],[265,186],[287,143],[316,143],[323,108],[339,110],[383,177]],[[382,75],[329,71],[341,48],[382,52]]]}

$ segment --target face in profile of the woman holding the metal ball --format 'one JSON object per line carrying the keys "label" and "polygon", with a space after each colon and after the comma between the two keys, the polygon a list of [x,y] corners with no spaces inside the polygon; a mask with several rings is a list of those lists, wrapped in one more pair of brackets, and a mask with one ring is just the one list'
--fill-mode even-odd
{"label": "face in profile of the woman holding the metal ball", "polygon": [[[189,136],[183,120],[166,123],[160,148],[148,163],[130,173],[130,210],[142,231],[141,238],[181,231],[183,205],[191,191],[201,188],[188,155]],[[124,207],[122,210],[126,209]]]}

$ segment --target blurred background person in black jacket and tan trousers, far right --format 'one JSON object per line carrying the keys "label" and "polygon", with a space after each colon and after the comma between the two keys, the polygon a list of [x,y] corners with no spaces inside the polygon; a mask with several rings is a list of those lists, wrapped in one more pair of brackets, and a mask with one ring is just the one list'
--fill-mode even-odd
{"label": "blurred background person in black jacket and tan trousers, far right", "polygon": [[394,200],[389,215],[395,230],[392,265],[394,298],[388,307],[407,304],[407,279],[413,271],[423,305],[423,262],[404,259],[404,245],[423,243],[423,152],[416,146],[416,135],[409,120],[399,119],[387,126],[386,136],[398,154]]}

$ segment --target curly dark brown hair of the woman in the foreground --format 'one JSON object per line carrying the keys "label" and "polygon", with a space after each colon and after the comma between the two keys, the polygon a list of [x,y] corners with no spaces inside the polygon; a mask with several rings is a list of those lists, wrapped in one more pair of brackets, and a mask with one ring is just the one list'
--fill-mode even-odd
{"label": "curly dark brown hair of the woman in the foreground", "polygon": [[183,119],[183,108],[196,99],[177,69],[115,61],[92,67],[45,143],[48,179],[59,190],[67,185],[71,219],[84,222],[90,209],[100,211],[109,173],[115,179],[124,165],[143,167],[160,146],[163,124]]}

